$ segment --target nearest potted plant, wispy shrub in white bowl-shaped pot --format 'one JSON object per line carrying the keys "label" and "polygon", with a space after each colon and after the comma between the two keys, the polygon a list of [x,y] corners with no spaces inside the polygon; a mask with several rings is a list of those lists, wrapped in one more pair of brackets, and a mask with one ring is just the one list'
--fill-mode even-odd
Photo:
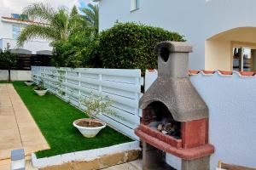
{"label": "nearest potted plant, wispy shrub in white bowl-shaped pot", "polygon": [[73,122],[73,126],[79,129],[79,132],[86,138],[94,138],[97,133],[99,133],[102,128],[106,127],[106,122],[93,118],[98,114],[114,114],[110,105],[113,101],[108,98],[108,96],[103,96],[100,94],[91,93],[90,98],[85,98],[81,100],[81,103],[85,106],[84,113],[89,116],[89,118],[78,119]]}

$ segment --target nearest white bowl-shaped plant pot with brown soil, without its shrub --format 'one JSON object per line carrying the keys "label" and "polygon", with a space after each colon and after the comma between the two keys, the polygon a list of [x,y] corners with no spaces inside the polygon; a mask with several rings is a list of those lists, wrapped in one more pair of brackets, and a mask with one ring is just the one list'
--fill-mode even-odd
{"label": "nearest white bowl-shaped plant pot with brown soil, without its shrub", "polygon": [[[89,125],[91,123],[91,125]],[[94,125],[94,127],[92,127]],[[86,138],[94,138],[102,128],[106,127],[106,122],[102,122],[98,119],[78,119],[73,122],[73,126],[79,129],[79,132]]]}

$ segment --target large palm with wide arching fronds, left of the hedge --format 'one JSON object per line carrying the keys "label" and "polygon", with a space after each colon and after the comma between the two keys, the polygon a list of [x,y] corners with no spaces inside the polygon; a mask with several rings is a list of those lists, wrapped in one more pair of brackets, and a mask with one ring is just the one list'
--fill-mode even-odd
{"label": "large palm with wide arching fronds, left of the hedge", "polygon": [[[20,32],[17,39],[17,45],[22,46],[24,42],[29,39],[38,37],[47,40],[67,40],[70,31],[74,29],[74,26],[85,25],[85,21],[82,21],[81,17],[75,7],[71,14],[68,14],[66,8],[58,8],[55,10],[48,4],[44,3],[32,3],[28,7],[24,8],[23,14],[26,14],[30,20],[35,20],[24,27]],[[80,20],[75,25],[74,20]]]}

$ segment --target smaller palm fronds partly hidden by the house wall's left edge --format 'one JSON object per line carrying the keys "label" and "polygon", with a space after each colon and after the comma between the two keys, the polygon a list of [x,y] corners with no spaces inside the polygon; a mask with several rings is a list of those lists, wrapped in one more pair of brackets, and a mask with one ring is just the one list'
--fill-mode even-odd
{"label": "smaller palm fronds partly hidden by the house wall's left edge", "polygon": [[99,31],[99,5],[93,5],[89,3],[87,8],[81,8],[81,11],[84,12],[85,19],[97,33]]}

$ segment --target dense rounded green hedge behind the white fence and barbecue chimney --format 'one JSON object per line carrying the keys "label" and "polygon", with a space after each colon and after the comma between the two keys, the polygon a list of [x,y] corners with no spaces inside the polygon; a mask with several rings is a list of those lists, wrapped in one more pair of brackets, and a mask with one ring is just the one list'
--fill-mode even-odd
{"label": "dense rounded green hedge behind the white fence and barbecue chimney", "polygon": [[135,23],[117,23],[102,31],[99,54],[102,67],[145,71],[157,68],[157,56],[154,46],[162,41],[183,42],[183,36],[159,27],[144,26]]}

